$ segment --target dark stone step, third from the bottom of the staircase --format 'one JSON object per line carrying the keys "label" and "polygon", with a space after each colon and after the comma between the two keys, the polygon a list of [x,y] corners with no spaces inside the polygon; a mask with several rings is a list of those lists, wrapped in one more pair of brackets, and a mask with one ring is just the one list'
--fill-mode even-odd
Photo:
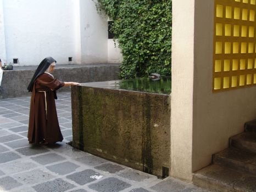
{"label": "dark stone step, third from the bottom of the staircase", "polygon": [[230,138],[230,146],[256,153],[256,133],[244,132]]}

